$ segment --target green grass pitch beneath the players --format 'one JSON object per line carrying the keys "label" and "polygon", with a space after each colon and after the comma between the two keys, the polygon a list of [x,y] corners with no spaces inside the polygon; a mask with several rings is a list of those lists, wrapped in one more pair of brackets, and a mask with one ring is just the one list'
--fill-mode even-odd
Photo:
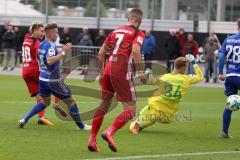
{"label": "green grass pitch beneath the players", "polygon": [[[68,84],[78,84],[98,88],[98,83],[69,80]],[[141,87],[139,89],[146,89]],[[93,109],[98,99],[75,96],[81,112]],[[240,153],[228,153],[240,149],[240,112],[234,112],[230,132],[233,139],[218,139],[221,129],[222,111],[225,97],[221,88],[192,87],[180,106],[177,121],[172,124],[155,124],[138,135],[129,132],[129,124],[115,135],[118,152],[111,152],[105,141],[98,137],[99,153],[87,149],[89,132],[78,131],[73,122],[56,117],[52,107],[47,109],[46,117],[54,126],[38,126],[37,118],[29,121],[24,129],[17,128],[21,119],[35,103],[30,98],[20,76],[0,76],[0,160],[80,160],[104,159],[110,157],[157,155],[154,157],[135,157],[139,159],[163,160],[229,160],[239,159]],[[138,110],[147,103],[139,98]],[[101,131],[111,124],[113,118],[122,110],[108,114]],[[89,122],[90,123],[90,122]],[[211,154],[224,151],[225,154]],[[186,153],[210,154],[189,154]],[[169,154],[170,156],[164,156]],[[174,154],[179,154],[175,155]],[[159,156],[163,155],[163,156]]]}

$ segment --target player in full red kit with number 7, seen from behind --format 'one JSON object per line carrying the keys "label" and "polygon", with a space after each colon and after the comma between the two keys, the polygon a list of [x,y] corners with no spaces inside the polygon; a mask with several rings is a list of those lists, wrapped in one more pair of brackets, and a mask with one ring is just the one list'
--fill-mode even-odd
{"label": "player in full red kit with number 7, seen from behind", "polygon": [[[117,100],[122,102],[124,111],[102,133],[102,138],[107,141],[109,148],[113,152],[117,151],[113,135],[135,116],[136,95],[131,77],[132,60],[136,64],[139,78],[142,82],[146,80],[143,74],[140,53],[144,33],[138,29],[142,21],[142,15],[140,9],[132,9],[128,17],[129,25],[121,26],[112,31],[98,53],[102,102],[97,107],[92,120],[92,130],[88,141],[90,151],[99,151],[96,137],[114,94],[116,94]],[[102,69],[106,52],[110,52],[110,57],[105,68]]]}

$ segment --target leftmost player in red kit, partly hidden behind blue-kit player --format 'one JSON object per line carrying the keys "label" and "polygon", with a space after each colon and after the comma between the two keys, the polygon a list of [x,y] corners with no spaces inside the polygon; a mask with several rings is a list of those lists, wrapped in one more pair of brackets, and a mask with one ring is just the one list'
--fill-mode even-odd
{"label": "leftmost player in red kit, partly hidden behind blue-kit player", "polygon": [[[24,39],[22,44],[22,77],[26,82],[31,97],[36,97],[37,102],[41,101],[38,96],[39,65],[37,60],[38,46],[40,39],[44,36],[44,26],[41,23],[34,23],[31,26],[32,34]],[[38,114],[38,124],[53,125],[44,118],[45,111]]]}

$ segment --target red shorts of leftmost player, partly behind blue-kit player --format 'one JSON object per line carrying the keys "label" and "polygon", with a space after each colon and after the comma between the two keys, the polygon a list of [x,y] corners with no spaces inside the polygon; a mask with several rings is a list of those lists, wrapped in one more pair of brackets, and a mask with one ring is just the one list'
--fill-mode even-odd
{"label": "red shorts of leftmost player, partly behind blue-kit player", "polygon": [[39,72],[32,72],[29,74],[23,75],[23,79],[26,82],[28,91],[31,97],[34,97],[38,94],[38,81],[39,81]]}

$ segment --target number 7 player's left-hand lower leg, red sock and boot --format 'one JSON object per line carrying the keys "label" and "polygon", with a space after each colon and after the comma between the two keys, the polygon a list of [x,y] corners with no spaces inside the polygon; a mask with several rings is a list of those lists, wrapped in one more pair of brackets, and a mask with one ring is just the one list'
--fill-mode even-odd
{"label": "number 7 player's left-hand lower leg, red sock and boot", "polygon": [[91,134],[90,134],[89,140],[88,140],[89,151],[92,151],[92,152],[100,151],[99,147],[97,146],[96,137],[97,137],[98,131],[102,125],[104,116],[108,112],[109,107],[111,106],[111,102],[112,102],[112,98],[110,98],[109,100],[102,101],[100,106],[97,107],[97,109],[94,113],[94,117],[92,120]]}

